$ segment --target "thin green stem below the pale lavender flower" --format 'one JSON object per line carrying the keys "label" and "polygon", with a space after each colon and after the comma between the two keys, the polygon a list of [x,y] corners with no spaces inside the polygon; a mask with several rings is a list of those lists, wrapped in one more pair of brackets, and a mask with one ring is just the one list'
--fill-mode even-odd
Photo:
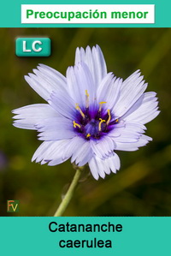
{"label": "thin green stem below the pale lavender flower", "polygon": [[74,195],[74,189],[76,188],[76,186],[79,182],[81,170],[83,170],[83,167],[74,165],[74,169],[76,170],[76,172],[75,172],[73,181],[71,182],[71,185],[68,188],[68,192],[65,194],[64,198],[62,199],[61,204],[57,208],[56,213],[54,214],[54,217],[62,216],[62,213],[66,210],[70,200],[72,199],[72,197]]}

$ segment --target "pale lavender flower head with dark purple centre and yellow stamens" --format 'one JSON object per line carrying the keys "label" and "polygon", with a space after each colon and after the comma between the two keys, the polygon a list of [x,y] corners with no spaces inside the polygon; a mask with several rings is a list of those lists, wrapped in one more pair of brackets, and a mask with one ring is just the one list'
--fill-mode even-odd
{"label": "pale lavender flower head with dark purple centre and yellow stamens", "polygon": [[156,93],[144,92],[139,70],[127,80],[108,73],[99,46],[77,48],[66,77],[43,64],[33,73],[25,79],[47,104],[13,110],[15,127],[38,130],[44,141],[32,161],[56,165],[71,158],[104,178],[120,169],[115,151],[136,151],[152,140],[144,124],[159,114]]}

